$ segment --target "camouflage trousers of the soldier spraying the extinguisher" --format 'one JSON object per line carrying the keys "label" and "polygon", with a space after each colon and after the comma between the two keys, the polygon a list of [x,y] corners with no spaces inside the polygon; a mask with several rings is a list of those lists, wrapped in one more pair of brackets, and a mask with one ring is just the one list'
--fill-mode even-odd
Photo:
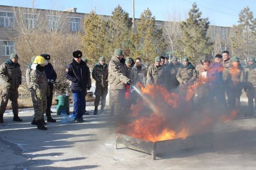
{"label": "camouflage trousers of the soldier spraying the extinguisher", "polygon": [[111,114],[124,114],[125,109],[125,89],[110,90]]}

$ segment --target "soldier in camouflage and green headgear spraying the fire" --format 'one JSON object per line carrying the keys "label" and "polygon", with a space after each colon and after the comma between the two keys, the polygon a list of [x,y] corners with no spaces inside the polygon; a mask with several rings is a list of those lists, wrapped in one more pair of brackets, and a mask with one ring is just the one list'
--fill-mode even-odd
{"label": "soldier in camouflage and green headgear spraying the fire", "polygon": [[116,56],[121,56],[122,50],[116,49],[114,56],[109,62],[109,75],[108,81],[110,86],[110,99],[112,114],[122,114],[125,106],[125,84],[130,82],[130,79],[126,76],[126,70],[122,62],[119,61],[119,58]]}

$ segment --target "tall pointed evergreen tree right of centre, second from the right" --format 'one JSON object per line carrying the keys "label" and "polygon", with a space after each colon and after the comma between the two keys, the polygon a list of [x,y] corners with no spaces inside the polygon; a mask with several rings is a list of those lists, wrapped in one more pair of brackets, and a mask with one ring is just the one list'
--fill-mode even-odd
{"label": "tall pointed evergreen tree right of centre, second from the right", "polygon": [[207,37],[210,22],[208,18],[201,18],[202,12],[196,3],[193,3],[188,15],[187,20],[180,24],[182,36],[178,44],[183,50],[179,51],[179,55],[187,56],[191,62],[198,62],[201,56],[209,54],[213,49]]}

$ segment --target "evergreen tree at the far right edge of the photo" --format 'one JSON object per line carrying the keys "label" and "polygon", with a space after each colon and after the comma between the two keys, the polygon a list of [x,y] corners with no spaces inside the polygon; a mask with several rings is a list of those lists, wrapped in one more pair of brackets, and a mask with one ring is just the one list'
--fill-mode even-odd
{"label": "evergreen tree at the far right edge of the photo", "polygon": [[233,54],[245,60],[255,56],[256,48],[256,18],[247,6],[239,14],[238,25],[234,25],[232,37]]}

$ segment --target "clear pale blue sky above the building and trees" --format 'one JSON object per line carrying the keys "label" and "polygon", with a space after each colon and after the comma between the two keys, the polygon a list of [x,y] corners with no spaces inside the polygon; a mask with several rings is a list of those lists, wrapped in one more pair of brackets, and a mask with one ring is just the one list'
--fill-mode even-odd
{"label": "clear pale blue sky above the building and trees", "polygon": [[[34,3],[33,3],[34,2]],[[249,6],[256,17],[255,0],[134,0],[135,18],[139,18],[144,10],[150,9],[156,20],[171,20],[175,18],[185,20],[193,2],[202,12],[203,18],[208,18],[211,25],[232,27],[238,24],[238,14]],[[112,11],[118,5],[132,17],[132,0],[0,0],[0,5],[21,6],[48,9],[65,10],[75,7],[77,12],[90,13],[95,10],[96,14],[112,15]]]}

